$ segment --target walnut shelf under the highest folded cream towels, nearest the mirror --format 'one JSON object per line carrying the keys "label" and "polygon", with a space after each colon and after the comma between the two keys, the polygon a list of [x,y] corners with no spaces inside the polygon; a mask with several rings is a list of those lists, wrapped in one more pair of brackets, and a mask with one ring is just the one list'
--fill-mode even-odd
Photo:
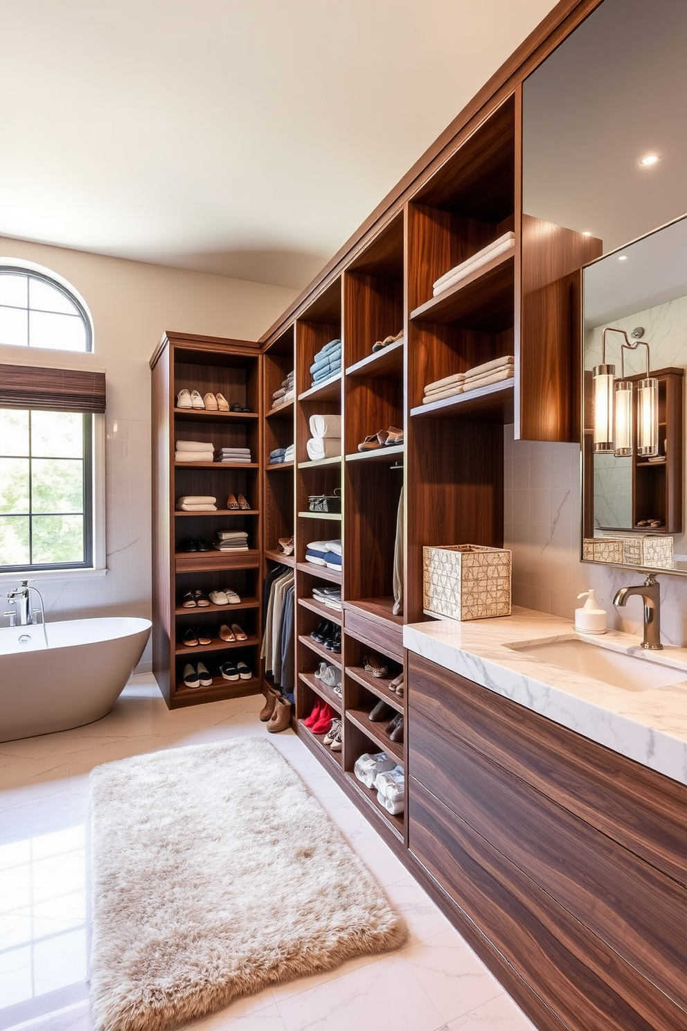
{"label": "walnut shelf under the highest folded cream towels, nearest the mirror", "polygon": [[514,251],[499,255],[410,313],[413,322],[501,333],[514,321]]}

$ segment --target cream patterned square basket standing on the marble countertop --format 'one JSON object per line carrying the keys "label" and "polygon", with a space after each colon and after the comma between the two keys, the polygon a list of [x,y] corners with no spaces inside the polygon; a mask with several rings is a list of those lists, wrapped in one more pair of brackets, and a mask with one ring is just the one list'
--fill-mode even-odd
{"label": "cream patterned square basket standing on the marble countertop", "polygon": [[511,614],[511,553],[479,544],[423,547],[427,616],[486,620]]}

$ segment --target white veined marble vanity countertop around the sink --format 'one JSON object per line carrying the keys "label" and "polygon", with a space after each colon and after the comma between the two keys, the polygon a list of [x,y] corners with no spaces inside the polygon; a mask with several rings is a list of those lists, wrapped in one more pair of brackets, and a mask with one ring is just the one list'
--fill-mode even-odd
{"label": "white veined marble vanity countertop around the sink", "polygon": [[652,662],[678,663],[687,681],[687,648],[664,645],[661,652],[647,653],[640,647],[641,637],[611,630],[602,638],[574,634],[572,621],[518,606],[500,619],[439,620],[403,630],[411,652],[687,784],[687,683],[626,691],[506,646],[571,636],[603,640],[613,651]]}

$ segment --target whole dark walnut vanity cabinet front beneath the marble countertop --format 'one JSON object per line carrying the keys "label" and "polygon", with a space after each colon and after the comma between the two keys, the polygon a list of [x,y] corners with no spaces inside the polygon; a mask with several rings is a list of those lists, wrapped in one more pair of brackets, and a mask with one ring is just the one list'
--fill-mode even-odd
{"label": "whole dark walnut vanity cabinet front beneath the marble countertop", "polygon": [[537,1027],[687,1028],[687,788],[412,654],[408,736],[410,852]]}

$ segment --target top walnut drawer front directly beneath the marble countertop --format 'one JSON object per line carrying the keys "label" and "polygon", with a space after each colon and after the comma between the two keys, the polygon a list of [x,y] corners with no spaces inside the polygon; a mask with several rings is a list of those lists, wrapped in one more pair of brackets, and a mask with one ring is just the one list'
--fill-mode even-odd
{"label": "top walnut drawer front directly beneath the marble countertop", "polygon": [[687,787],[413,653],[408,683],[411,747],[430,721],[687,887]]}

